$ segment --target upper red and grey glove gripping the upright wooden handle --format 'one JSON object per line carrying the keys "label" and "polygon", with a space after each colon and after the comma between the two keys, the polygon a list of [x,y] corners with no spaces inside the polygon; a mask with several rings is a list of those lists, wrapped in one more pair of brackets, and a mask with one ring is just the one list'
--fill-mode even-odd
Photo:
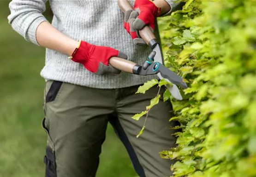
{"label": "upper red and grey glove gripping the upright wooden handle", "polygon": [[155,18],[160,16],[161,7],[155,6],[151,0],[135,0],[133,10],[125,12],[124,27],[131,35],[134,44],[145,45],[138,30],[148,25],[152,31],[155,30]]}

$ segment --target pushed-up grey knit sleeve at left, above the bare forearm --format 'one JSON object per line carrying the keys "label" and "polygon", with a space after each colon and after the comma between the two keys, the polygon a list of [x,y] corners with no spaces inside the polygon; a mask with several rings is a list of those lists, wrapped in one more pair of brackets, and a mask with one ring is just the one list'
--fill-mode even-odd
{"label": "pushed-up grey knit sleeve at left, above the bare forearm", "polygon": [[9,3],[11,13],[7,18],[12,29],[37,46],[36,29],[40,23],[47,21],[42,15],[46,10],[46,2],[47,0],[12,0]]}

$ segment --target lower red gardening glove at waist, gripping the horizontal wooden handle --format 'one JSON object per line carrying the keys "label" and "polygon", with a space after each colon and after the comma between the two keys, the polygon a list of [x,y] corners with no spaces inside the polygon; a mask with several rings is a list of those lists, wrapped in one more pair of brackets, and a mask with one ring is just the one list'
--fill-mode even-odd
{"label": "lower red gardening glove at waist, gripping the horizontal wooden handle", "polygon": [[90,72],[95,74],[119,74],[121,71],[109,65],[111,57],[120,57],[127,59],[127,56],[116,49],[107,46],[95,46],[85,41],[71,55],[70,59],[74,62],[81,63]]}

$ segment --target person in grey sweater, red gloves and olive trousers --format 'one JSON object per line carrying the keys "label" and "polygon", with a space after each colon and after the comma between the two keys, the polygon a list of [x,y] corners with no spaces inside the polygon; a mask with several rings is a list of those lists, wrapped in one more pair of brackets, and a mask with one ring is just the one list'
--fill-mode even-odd
{"label": "person in grey sweater, red gloves and olive trousers", "polygon": [[[125,14],[117,0],[12,0],[8,22],[25,40],[46,48],[41,76],[46,80],[42,127],[47,132],[46,177],[95,177],[108,122],[125,145],[140,177],[171,175],[172,160],[159,152],[172,148],[173,116],[170,102],[153,107],[146,129],[136,135],[144,120],[133,120],[156,96],[154,86],[145,94],[138,87],[156,75],[121,72],[109,65],[111,57],[143,64],[151,49],[138,30],[148,25],[158,40],[157,17],[180,6],[173,0],[129,0]],[[38,58],[35,58],[35,60]],[[29,66],[28,66],[29,67]],[[165,91],[161,88],[160,94]],[[118,163],[118,162],[117,162]]]}

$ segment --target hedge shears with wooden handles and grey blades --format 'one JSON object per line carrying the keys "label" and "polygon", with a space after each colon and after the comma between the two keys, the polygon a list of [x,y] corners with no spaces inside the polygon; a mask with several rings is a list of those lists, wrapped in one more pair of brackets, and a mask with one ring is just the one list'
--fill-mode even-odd
{"label": "hedge shears with wooden handles and grey blades", "polygon": [[[125,11],[132,10],[132,7],[127,0],[118,0],[118,6],[124,13]],[[183,98],[177,86],[185,89],[187,88],[187,85],[178,74],[164,66],[161,46],[155,35],[148,26],[145,26],[143,29],[139,30],[139,34],[145,43],[152,49],[152,52],[149,54],[147,60],[143,63],[143,66],[119,57],[112,57],[109,60],[109,63],[114,68],[131,74],[157,74],[159,79],[164,79],[167,82],[171,82],[173,84],[173,86],[169,84],[166,84],[165,86],[171,92],[174,98],[182,100]]]}

